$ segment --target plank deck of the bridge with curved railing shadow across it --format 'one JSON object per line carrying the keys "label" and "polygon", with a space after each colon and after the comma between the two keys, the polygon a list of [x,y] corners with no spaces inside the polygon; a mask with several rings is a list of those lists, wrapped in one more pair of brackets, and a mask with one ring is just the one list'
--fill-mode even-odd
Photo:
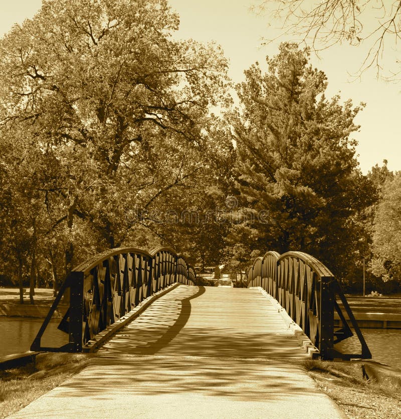
{"label": "plank deck of the bridge with curved railing shadow across it", "polygon": [[154,302],[99,354],[308,356],[258,290],[190,286]]}

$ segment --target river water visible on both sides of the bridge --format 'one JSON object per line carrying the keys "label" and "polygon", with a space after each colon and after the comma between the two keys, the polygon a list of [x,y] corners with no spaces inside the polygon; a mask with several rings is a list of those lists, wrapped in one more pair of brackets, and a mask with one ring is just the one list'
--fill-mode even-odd
{"label": "river water visible on both sides of the bridge", "polygon": [[[27,317],[0,317],[0,356],[28,351],[43,319]],[[54,323],[57,326],[58,322]],[[362,334],[372,353],[372,359],[401,368],[401,329],[362,329]],[[61,346],[68,335],[53,327],[46,345]],[[358,353],[360,345],[356,336],[336,345],[348,353]]]}

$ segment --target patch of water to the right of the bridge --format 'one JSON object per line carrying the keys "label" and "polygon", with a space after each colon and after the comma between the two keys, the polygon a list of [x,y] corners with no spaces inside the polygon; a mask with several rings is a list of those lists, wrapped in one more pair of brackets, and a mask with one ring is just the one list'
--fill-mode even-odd
{"label": "patch of water to the right of the bridge", "polygon": [[[401,368],[401,330],[400,329],[361,329],[372,359],[383,364]],[[354,335],[335,345],[345,353],[360,353],[358,338]]]}

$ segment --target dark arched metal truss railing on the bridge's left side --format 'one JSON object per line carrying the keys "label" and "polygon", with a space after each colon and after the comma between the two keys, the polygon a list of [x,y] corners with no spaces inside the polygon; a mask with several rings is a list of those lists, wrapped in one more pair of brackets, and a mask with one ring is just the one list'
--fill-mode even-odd
{"label": "dark arched metal truss railing on the bridge's left side", "polygon": [[[94,336],[145,298],[172,283],[194,285],[195,280],[192,267],[170,248],[150,253],[136,248],[103,252],[68,275],[31,350],[81,352]],[[42,338],[51,346],[43,345]],[[55,347],[55,341],[62,343]]]}

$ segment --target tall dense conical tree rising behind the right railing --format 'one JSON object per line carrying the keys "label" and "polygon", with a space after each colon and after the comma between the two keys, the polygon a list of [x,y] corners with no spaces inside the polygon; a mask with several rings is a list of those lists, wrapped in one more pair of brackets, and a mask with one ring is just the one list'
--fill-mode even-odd
{"label": "tall dense conical tree rising behind the right railing", "polygon": [[255,64],[237,86],[241,207],[231,240],[261,252],[304,251],[345,277],[359,251],[355,215],[374,192],[349,137],[361,107],[326,99],[326,76],[308,57],[283,43],[267,73]]}

